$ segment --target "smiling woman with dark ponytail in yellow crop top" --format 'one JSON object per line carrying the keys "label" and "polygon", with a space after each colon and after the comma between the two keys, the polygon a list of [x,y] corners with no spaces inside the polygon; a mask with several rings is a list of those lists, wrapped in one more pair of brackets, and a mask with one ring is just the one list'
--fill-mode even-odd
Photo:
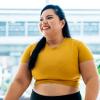
{"label": "smiling woman with dark ponytail in yellow crop top", "polygon": [[40,15],[43,38],[24,51],[19,71],[5,100],[18,100],[35,79],[30,100],[82,100],[79,80],[86,84],[85,100],[96,100],[98,75],[91,51],[71,38],[62,9],[47,5]]}

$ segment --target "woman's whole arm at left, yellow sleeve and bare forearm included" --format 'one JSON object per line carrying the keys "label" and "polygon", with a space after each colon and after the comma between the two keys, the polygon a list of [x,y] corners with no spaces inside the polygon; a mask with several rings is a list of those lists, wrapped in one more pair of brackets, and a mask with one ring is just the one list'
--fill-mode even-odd
{"label": "woman's whole arm at left, yellow sleeve and bare forearm included", "polygon": [[7,95],[6,95],[6,98],[8,99],[13,98],[13,100],[15,100],[16,98],[20,97],[22,93],[30,85],[30,82],[32,80],[32,75],[31,75],[31,71],[28,69],[28,61],[30,58],[30,53],[31,53],[32,48],[33,46],[29,45],[24,50],[21,56],[19,68],[16,72],[14,80],[11,83],[9,91],[7,92]]}

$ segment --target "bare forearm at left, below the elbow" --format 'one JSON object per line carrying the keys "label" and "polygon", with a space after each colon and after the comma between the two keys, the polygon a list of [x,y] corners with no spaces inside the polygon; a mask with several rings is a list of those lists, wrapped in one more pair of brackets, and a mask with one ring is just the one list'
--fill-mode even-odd
{"label": "bare forearm at left, below the elbow", "polygon": [[11,84],[4,100],[19,100],[25,89],[26,86],[22,82],[15,80]]}

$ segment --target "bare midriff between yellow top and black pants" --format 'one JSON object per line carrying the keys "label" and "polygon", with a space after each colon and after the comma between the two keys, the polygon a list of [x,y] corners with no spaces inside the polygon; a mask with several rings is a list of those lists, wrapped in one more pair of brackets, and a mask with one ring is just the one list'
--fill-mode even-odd
{"label": "bare midriff between yellow top and black pants", "polygon": [[42,83],[34,86],[33,90],[45,96],[60,96],[76,93],[79,88],[56,83]]}

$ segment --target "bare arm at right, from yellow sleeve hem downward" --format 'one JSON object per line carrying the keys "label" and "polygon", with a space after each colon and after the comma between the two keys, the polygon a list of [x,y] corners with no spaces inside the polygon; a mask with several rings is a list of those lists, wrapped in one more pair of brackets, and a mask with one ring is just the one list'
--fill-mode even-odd
{"label": "bare arm at right, from yellow sleeve hem downward", "polygon": [[99,77],[94,61],[80,63],[80,72],[86,84],[85,100],[96,100],[99,91]]}

